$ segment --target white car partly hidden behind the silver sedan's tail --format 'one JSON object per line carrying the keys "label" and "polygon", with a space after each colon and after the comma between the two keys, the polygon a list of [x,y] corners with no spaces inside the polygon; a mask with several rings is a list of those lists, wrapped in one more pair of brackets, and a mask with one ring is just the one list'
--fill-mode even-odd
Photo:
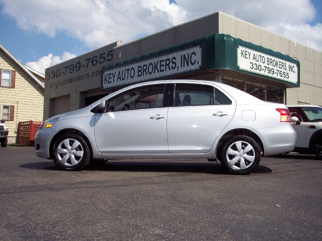
{"label": "white car partly hidden behind the silver sedan's tail", "polygon": [[316,105],[288,105],[291,116],[299,120],[296,131],[295,152],[315,154],[322,159],[322,107]]}

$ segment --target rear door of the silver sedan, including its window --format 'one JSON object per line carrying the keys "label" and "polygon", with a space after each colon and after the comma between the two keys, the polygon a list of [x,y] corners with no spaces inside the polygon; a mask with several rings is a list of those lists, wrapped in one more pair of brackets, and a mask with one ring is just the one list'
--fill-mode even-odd
{"label": "rear door of the silver sedan, including its window", "polygon": [[209,152],[231,121],[235,102],[206,84],[176,84],[174,96],[168,111],[169,152]]}

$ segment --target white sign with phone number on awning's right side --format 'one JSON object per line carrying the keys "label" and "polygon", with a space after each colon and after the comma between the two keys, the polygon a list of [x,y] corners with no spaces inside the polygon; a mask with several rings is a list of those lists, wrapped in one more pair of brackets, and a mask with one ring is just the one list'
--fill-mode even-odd
{"label": "white sign with phone number on awning's right side", "polygon": [[239,69],[297,84],[297,65],[268,54],[238,46],[237,65]]}

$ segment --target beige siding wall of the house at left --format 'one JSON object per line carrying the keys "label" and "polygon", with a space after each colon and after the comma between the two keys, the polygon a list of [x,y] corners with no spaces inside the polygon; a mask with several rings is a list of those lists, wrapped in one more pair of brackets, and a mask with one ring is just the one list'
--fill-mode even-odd
{"label": "beige siding wall of the house at left", "polygon": [[16,71],[15,88],[0,87],[0,105],[15,106],[14,121],[5,123],[9,127],[9,136],[15,139],[19,122],[43,121],[44,89],[2,51],[0,68]]}

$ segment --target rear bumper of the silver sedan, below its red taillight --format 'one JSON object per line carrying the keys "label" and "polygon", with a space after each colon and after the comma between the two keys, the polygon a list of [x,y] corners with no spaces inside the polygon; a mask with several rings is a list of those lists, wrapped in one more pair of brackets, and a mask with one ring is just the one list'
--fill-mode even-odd
{"label": "rear bumper of the silver sedan, below its red taillight", "polygon": [[295,148],[296,132],[290,123],[280,123],[269,129],[258,129],[254,133],[263,142],[264,156],[291,152]]}

